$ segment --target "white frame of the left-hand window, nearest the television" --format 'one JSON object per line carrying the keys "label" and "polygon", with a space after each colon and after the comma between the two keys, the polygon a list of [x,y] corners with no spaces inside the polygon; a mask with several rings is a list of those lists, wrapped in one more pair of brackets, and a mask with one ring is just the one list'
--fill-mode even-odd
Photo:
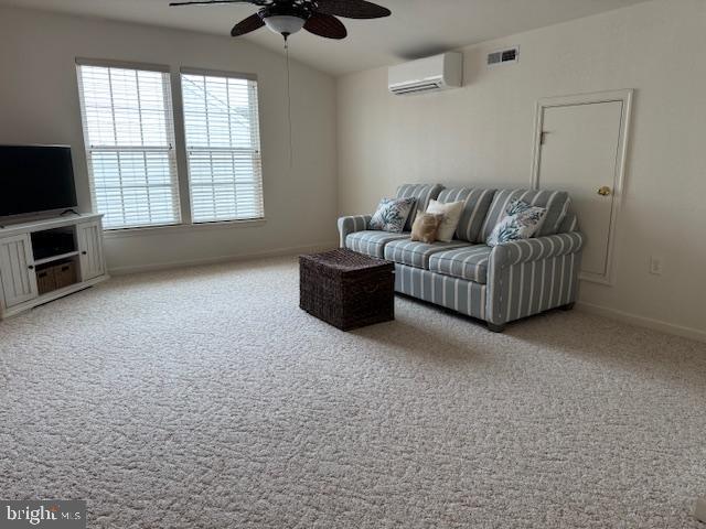
{"label": "white frame of the left-hand window, nearest the television", "polygon": [[[181,186],[181,176],[179,170],[179,149],[178,149],[178,138],[176,138],[176,111],[178,107],[174,101],[173,94],[173,79],[171,74],[171,68],[167,65],[159,64],[150,64],[150,63],[132,63],[125,61],[111,61],[111,60],[94,60],[94,58],[83,58],[76,57],[75,60],[75,68],[76,68],[76,83],[77,83],[77,94],[78,94],[78,104],[81,108],[81,121],[82,121],[82,132],[84,140],[84,155],[86,160],[86,169],[88,176],[88,186],[89,186],[89,196],[92,209],[97,212],[97,194],[96,194],[96,185],[94,177],[94,162],[93,162],[93,153],[99,152],[104,150],[105,152],[116,151],[116,152],[150,152],[154,151],[156,145],[142,145],[142,148],[133,147],[133,145],[93,145],[89,143],[88,129],[87,129],[87,114],[85,108],[85,97],[84,97],[84,86],[82,83],[83,74],[82,67],[97,67],[97,68],[117,68],[117,69],[127,69],[133,72],[152,72],[165,75],[165,83],[163,84],[163,102],[164,102],[164,112],[167,117],[167,141],[169,143],[165,148],[159,148],[159,152],[167,152],[170,158],[170,171],[172,174],[170,175],[173,179],[173,182],[170,184],[172,191],[174,193],[174,214],[175,218],[173,223],[154,223],[154,224],[142,224],[135,226],[116,226],[116,227],[104,227],[104,231],[122,231],[122,230],[140,230],[140,229],[153,229],[153,228],[164,228],[164,227],[178,227],[184,224],[184,209],[182,206],[182,186]],[[114,116],[115,119],[115,116]]]}

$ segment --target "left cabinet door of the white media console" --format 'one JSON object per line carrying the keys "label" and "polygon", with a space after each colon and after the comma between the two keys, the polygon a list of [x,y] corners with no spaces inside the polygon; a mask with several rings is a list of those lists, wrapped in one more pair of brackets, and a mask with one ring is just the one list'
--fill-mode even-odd
{"label": "left cabinet door of the white media console", "polygon": [[39,295],[29,235],[0,239],[0,280],[6,307],[33,300]]}

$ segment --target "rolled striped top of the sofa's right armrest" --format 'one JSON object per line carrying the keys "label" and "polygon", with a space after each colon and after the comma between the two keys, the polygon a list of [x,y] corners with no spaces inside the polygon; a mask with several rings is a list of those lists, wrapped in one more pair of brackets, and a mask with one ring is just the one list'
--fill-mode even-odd
{"label": "rolled striped top of the sofa's right armrest", "polygon": [[581,251],[585,241],[586,237],[580,231],[513,240],[512,242],[503,242],[493,248],[490,261],[493,262],[498,269],[503,269],[523,262],[567,256]]}

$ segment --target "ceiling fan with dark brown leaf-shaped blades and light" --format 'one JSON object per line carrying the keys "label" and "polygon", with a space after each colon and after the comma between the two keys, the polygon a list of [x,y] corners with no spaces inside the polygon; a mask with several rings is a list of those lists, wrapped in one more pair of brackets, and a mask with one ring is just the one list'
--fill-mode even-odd
{"label": "ceiling fan with dark brown leaf-shaped blades and light", "polygon": [[238,22],[232,36],[245,35],[267,25],[285,41],[302,28],[327,39],[345,39],[347,31],[336,17],[346,19],[381,19],[391,11],[366,0],[186,0],[170,6],[214,6],[220,3],[252,3],[261,9]]}

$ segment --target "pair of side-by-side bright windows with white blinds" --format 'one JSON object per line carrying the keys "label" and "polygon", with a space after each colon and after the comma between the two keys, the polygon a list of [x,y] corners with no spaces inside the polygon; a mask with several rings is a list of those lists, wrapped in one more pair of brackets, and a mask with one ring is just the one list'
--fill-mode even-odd
{"label": "pair of side-by-side bright windows with white blinds", "polygon": [[[254,77],[182,71],[186,150],[176,152],[169,67],[77,65],[90,191],[106,229],[264,217]],[[189,169],[181,182],[178,156]]]}

